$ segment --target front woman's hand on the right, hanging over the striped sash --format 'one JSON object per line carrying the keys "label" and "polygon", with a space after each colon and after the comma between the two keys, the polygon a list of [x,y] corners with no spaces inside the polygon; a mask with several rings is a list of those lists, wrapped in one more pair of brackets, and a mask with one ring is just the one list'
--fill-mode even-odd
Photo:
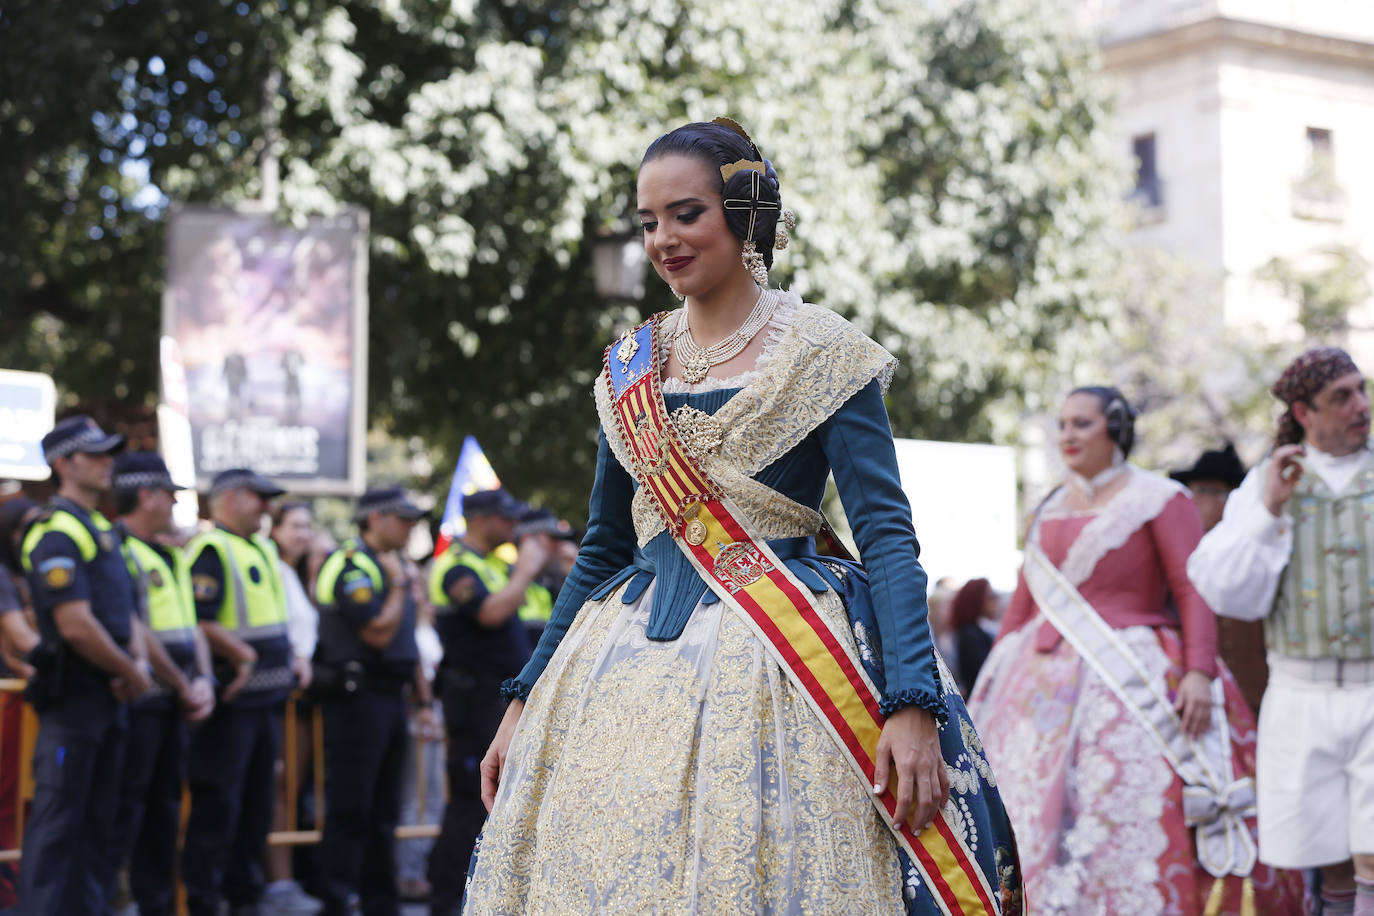
{"label": "front woman's hand on the right, hanging over the striped sash", "polygon": [[888,788],[896,775],[897,810],[894,820],[910,821],[921,832],[949,801],[949,773],[940,753],[936,718],[919,706],[907,706],[888,717],[878,736],[878,759],[874,766],[874,795]]}

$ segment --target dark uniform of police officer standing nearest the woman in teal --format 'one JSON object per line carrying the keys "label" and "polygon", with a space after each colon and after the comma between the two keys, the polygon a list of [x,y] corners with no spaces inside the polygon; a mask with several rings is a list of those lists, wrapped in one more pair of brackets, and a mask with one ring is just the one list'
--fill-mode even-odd
{"label": "dark uniform of police officer standing nearest the woman in teal", "polygon": [[[471,551],[463,545],[451,549]],[[482,602],[492,592],[470,566],[447,570],[440,591],[449,600],[434,608],[434,629],[444,645],[436,684],[448,732],[448,803],[430,850],[429,882],[433,915],[451,916],[462,906],[469,861],[486,821],[480,765],[506,715],[502,681],[525,667],[530,645],[518,614],[499,626],[478,622]]]}

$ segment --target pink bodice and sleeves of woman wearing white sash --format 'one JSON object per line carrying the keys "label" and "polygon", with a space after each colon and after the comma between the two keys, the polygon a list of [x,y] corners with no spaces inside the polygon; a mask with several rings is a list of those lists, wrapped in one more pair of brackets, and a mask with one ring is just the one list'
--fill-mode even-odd
{"label": "pink bodice and sleeves of woman wearing white sash", "polygon": [[[1081,514],[1040,523],[1040,545],[1051,563],[1063,566],[1069,548],[1092,519],[1092,514]],[[1216,618],[1187,575],[1189,555],[1200,540],[1202,518],[1193,500],[1179,493],[1124,544],[1107,551],[1079,584],[1079,592],[1114,628],[1180,628],[1187,669],[1215,676]],[[1020,577],[999,639],[1025,626],[1035,611],[1025,578]],[[1036,633],[1036,645],[1048,651],[1059,639],[1059,632],[1046,621]]]}

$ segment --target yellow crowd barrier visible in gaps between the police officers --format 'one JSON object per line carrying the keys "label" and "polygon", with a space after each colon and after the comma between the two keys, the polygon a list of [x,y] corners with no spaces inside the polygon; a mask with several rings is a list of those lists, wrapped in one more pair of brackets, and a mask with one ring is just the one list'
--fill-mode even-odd
{"label": "yellow crowd barrier visible in gaps between the police officers", "polygon": [[[25,681],[22,680],[5,680],[0,678],[0,698],[5,703],[15,702],[23,694]],[[301,753],[302,747],[298,740],[298,703],[295,702],[298,696],[293,695],[286,705],[286,715],[283,720],[283,740],[282,740],[282,758],[284,762],[286,773],[286,829],[272,831],[268,834],[267,842],[269,846],[309,846],[320,842],[319,829],[300,829],[300,798],[301,798]],[[315,792],[315,812],[316,821],[323,824],[326,817],[324,810],[324,720],[320,717],[319,706],[309,706],[309,735],[311,735],[311,773],[313,776],[313,792]],[[0,864],[3,862],[18,862],[23,856],[23,821],[26,816],[26,806],[29,799],[33,798],[33,743],[38,736],[38,717],[34,714],[33,709],[27,703],[23,703],[23,713],[19,726],[19,755],[15,761],[19,766],[18,779],[15,780],[14,790],[14,849],[0,849]],[[5,761],[7,747],[5,742],[14,740],[11,736],[4,733],[0,728],[0,764]],[[415,735],[415,753],[412,754],[415,772],[415,791],[418,794],[416,810],[419,812],[418,824],[400,824],[396,828],[396,839],[422,839],[438,836],[438,824],[426,823],[426,802],[429,795],[429,773],[426,772],[426,754],[422,751],[420,744],[425,742],[423,736]],[[445,799],[447,801],[447,799]],[[181,825],[185,828],[185,818],[191,809],[190,792],[183,788],[181,791]],[[4,825],[0,824],[0,831]],[[181,902],[181,891],[179,889],[179,912],[184,912]]]}

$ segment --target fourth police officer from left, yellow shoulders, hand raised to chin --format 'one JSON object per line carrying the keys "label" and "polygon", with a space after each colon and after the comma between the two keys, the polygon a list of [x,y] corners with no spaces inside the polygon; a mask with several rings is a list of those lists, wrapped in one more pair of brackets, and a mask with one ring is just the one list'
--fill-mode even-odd
{"label": "fourth police officer from left, yellow shoulders, hand raised to chin", "polygon": [[396,823],[408,742],[405,689],[414,685],[433,728],[430,691],[415,645],[415,600],[400,551],[426,515],[398,486],[357,504],[359,537],[320,567],[315,692],[324,718],[324,913],[348,912],[356,893],[368,916],[396,916]]}

